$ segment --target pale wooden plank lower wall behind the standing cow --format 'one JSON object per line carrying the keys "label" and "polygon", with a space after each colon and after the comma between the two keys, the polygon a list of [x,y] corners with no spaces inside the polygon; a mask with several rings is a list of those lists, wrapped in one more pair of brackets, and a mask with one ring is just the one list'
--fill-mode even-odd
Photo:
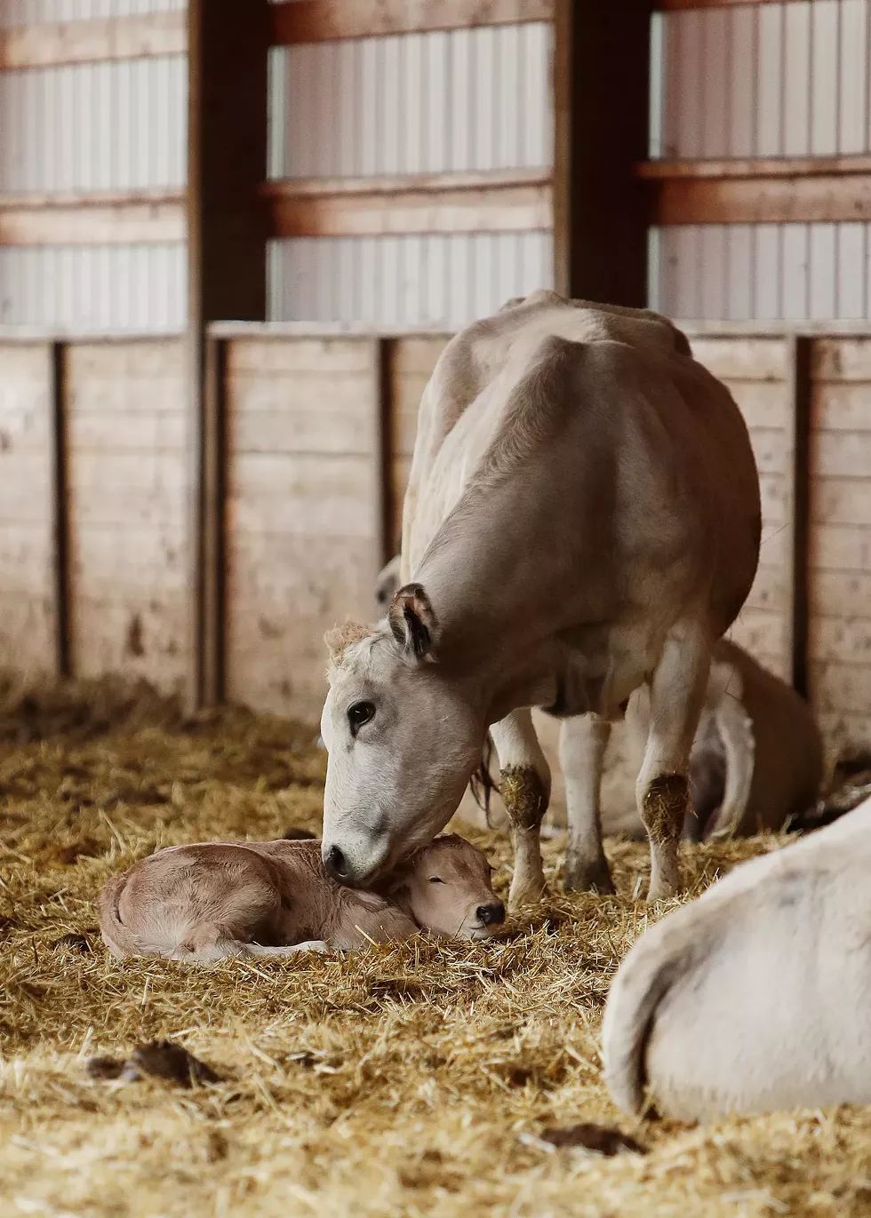
{"label": "pale wooden plank lower wall behind the standing cow", "polygon": [[[759,574],[733,637],[871,747],[871,333],[687,326],[747,419]],[[316,721],[324,630],[372,614],[443,334],[0,334],[0,666],[144,677]],[[728,471],[724,470],[724,476]],[[199,675],[197,675],[199,674]]]}

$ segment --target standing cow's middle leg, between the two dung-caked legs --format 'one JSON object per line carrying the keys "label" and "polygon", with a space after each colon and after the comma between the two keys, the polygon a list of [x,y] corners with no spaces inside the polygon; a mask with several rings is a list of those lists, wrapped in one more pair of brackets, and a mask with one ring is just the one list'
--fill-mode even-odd
{"label": "standing cow's middle leg, between the two dung-caked legs", "polygon": [[565,780],[569,845],[566,893],[613,893],[614,881],[602,849],[599,790],[610,723],[598,715],[564,719],[559,728],[559,765]]}

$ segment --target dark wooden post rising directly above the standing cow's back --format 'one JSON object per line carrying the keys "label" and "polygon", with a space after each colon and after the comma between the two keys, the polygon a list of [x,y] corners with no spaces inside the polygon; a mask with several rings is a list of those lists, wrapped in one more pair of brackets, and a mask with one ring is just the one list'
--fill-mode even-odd
{"label": "dark wooden post rising directly above the standing cow's back", "polygon": [[564,296],[647,304],[649,0],[557,0],[554,285]]}

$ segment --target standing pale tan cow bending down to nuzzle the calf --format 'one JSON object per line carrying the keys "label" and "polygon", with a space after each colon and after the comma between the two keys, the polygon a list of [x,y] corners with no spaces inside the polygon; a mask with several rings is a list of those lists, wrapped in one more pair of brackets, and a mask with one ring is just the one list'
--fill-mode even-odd
{"label": "standing pale tan cow bending down to nuzzle the calf", "polygon": [[[566,720],[566,776],[601,770],[604,725],[646,682],[649,898],[676,892],[710,649],[749,592],[759,535],[741,413],[665,318],[535,292],[463,330],[420,403],[403,587],[376,627],[328,636],[330,872],[370,884],[430,840],[490,728],[510,903],[536,899],[549,772],[529,708]],[[568,866],[603,889],[594,812],[570,809]]]}

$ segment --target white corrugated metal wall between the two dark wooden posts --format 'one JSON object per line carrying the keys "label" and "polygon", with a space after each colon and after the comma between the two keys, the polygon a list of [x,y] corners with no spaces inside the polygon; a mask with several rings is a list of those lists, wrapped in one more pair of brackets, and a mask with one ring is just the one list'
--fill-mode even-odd
{"label": "white corrugated metal wall between the two dark wooden posts", "polygon": [[[549,166],[546,23],[369,38],[272,52],[274,178]],[[551,286],[548,233],[275,241],[277,320],[458,326]]]}

